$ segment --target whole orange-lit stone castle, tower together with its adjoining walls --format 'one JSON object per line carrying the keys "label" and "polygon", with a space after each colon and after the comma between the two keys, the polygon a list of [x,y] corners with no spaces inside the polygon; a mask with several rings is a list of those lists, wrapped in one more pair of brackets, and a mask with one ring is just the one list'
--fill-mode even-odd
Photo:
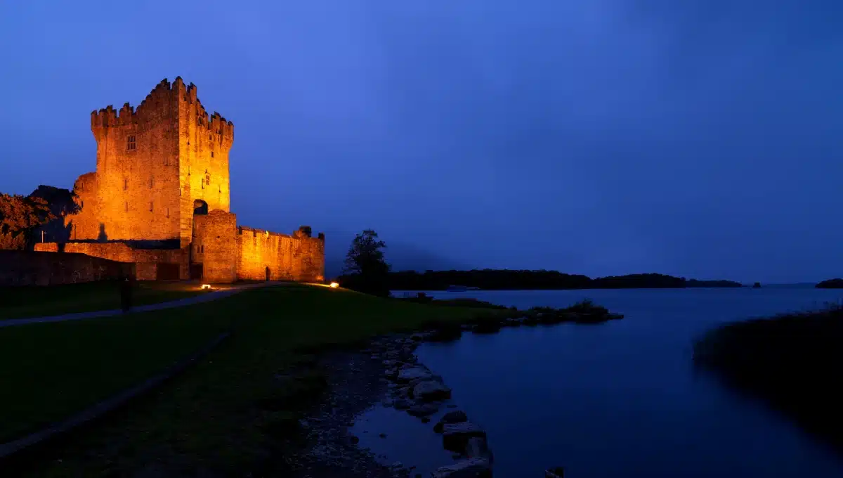
{"label": "whole orange-lit stone castle, tower together with its adjoining walls", "polygon": [[228,181],[234,124],[208,116],[193,83],[164,78],[137,110],[94,110],[91,131],[96,172],[73,185],[81,211],[65,218],[69,240],[35,250],[132,262],[139,280],[324,281],[325,234],[237,226]]}

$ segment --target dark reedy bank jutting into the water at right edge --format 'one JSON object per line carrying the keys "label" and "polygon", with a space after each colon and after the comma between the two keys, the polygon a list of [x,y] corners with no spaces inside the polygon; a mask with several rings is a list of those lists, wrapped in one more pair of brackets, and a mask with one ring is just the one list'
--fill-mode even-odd
{"label": "dark reedy bank jutting into the water at right edge", "polygon": [[723,325],[695,344],[695,362],[843,452],[841,344],[833,308]]}

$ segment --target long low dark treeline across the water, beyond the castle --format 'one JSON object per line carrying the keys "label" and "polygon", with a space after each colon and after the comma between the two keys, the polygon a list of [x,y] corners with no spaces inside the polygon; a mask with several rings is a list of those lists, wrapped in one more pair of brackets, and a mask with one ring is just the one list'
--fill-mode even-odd
{"label": "long low dark treeline across the water, beyond the castle", "polygon": [[[684,287],[743,287],[732,281],[697,281],[664,274],[629,274],[592,279],[583,275],[559,271],[511,271],[482,269],[472,271],[416,271],[389,272],[387,283],[391,290],[445,290],[450,286],[479,287],[485,290],[503,289],[610,289],[610,288],[684,288]],[[344,287],[352,287],[353,275],[337,278]]]}

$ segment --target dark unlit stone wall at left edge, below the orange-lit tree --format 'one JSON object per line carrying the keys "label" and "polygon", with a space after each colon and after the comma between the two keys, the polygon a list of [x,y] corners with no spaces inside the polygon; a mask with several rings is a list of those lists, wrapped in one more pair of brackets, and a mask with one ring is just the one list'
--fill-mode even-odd
{"label": "dark unlit stone wall at left edge, below the orange-lit tree", "polygon": [[121,264],[84,254],[0,250],[0,286],[49,286],[117,279],[134,273],[133,264]]}

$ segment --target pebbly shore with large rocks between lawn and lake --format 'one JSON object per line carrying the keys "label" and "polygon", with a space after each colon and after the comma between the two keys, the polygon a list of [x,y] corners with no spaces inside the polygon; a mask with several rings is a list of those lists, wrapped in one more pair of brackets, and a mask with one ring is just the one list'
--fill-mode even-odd
{"label": "pebbly shore with large rocks between lawn and lake", "polygon": [[[486,433],[468,421],[451,402],[450,389],[418,362],[416,347],[438,339],[436,332],[392,334],[373,338],[357,350],[325,352],[318,367],[328,374],[329,390],[299,421],[306,444],[291,457],[296,478],[406,478],[422,476],[412,463],[384,464],[384,456],[359,445],[351,432],[355,421],[378,405],[405,411],[443,437],[443,447],[459,454],[442,463],[433,476],[476,470],[491,476],[493,463]],[[430,416],[447,411],[434,424]],[[446,422],[448,422],[446,424]],[[445,428],[448,428],[447,430]],[[389,439],[385,435],[381,438]],[[454,455],[456,456],[456,455]],[[420,461],[421,461],[421,457]]]}

